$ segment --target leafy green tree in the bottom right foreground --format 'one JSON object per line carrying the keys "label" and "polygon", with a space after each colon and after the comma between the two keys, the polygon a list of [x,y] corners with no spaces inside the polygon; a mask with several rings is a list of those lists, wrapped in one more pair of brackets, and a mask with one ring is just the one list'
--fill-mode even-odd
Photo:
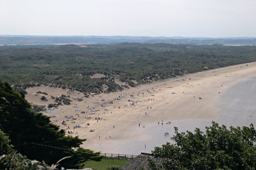
{"label": "leafy green tree in the bottom right foreground", "polygon": [[256,130],[250,127],[230,127],[218,123],[206,127],[178,132],[171,137],[175,144],[155,147],[152,154],[164,158],[165,169],[255,169]]}

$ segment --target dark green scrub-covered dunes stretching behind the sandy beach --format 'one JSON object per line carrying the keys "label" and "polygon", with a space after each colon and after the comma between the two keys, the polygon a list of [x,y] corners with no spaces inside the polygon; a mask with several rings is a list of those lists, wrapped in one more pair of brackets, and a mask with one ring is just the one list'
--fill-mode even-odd
{"label": "dark green scrub-covered dunes stretching behind the sandy beach", "polygon": [[26,89],[40,83],[88,95],[256,61],[256,46],[4,45],[0,46],[0,60],[0,79],[16,87]]}

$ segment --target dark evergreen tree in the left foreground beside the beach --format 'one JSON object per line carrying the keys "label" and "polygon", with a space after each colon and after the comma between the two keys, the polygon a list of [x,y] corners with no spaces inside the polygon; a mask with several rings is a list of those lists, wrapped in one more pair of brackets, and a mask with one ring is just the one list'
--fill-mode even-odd
{"label": "dark evergreen tree in the left foreground beside the beach", "polygon": [[[99,153],[79,148],[84,139],[80,139],[78,136],[65,136],[65,131],[50,123],[49,117],[32,112],[24,95],[15,92],[8,83],[2,81],[0,81],[0,126],[3,132],[8,134],[10,144],[14,146],[14,149],[31,160],[44,160],[46,164],[54,164],[63,157],[72,156],[62,161],[60,166],[78,168],[78,164],[81,162],[90,159],[100,160],[101,158],[97,155]],[[1,141],[2,144],[4,143]],[[73,148],[78,148],[77,150],[80,152],[73,152]],[[86,153],[81,154],[81,152]],[[3,151],[1,154],[8,153]]]}

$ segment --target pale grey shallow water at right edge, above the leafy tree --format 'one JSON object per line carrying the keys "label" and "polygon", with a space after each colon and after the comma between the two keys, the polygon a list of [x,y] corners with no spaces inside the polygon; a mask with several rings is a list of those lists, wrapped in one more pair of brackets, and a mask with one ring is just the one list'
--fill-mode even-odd
{"label": "pale grey shallow water at right edge, above the leafy tree", "polygon": [[256,125],[256,78],[239,82],[228,89],[216,107],[220,108],[220,119],[227,127]]}

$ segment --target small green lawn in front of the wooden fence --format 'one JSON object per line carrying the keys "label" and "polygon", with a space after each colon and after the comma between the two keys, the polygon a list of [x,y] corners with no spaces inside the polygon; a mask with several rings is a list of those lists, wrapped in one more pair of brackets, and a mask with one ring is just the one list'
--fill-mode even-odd
{"label": "small green lawn in front of the wooden fence", "polygon": [[107,167],[110,167],[112,165],[116,165],[116,166],[124,166],[124,164],[126,164],[127,162],[129,162],[130,160],[124,160],[124,159],[116,159],[116,158],[102,158],[101,161],[93,161],[93,160],[89,160],[84,162],[85,166],[84,168],[92,168],[92,169],[96,169],[96,170],[106,170]]}

